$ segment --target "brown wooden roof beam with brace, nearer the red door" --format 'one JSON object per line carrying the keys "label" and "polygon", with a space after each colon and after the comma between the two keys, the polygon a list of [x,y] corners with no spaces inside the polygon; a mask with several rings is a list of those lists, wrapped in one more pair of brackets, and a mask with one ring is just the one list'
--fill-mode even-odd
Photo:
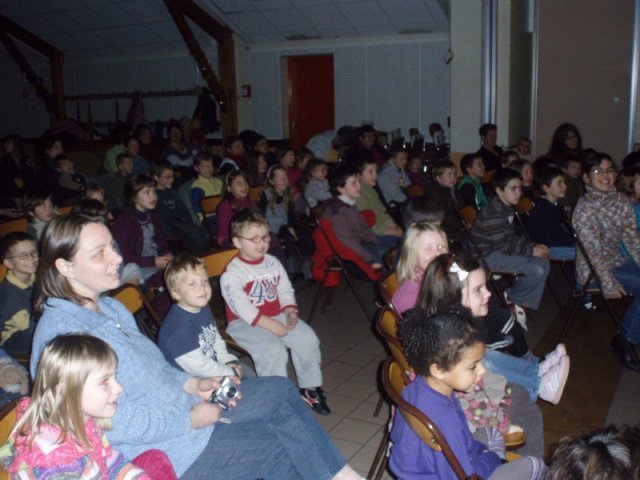
{"label": "brown wooden roof beam with brace, nearer the red door", "polygon": [[[193,0],[164,0],[164,3],[220,106],[223,135],[236,133],[238,130],[238,115],[235,96],[235,56],[231,30],[217,22],[196,5]],[[221,80],[216,77],[186,17],[190,18],[216,40]]]}

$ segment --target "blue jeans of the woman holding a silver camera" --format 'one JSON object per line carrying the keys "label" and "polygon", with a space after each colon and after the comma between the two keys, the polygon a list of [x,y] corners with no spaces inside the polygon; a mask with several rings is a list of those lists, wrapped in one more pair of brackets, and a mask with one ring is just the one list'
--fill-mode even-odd
{"label": "blue jeans of the woman holding a silver camera", "polygon": [[246,380],[209,444],[181,479],[329,480],[346,461],[289,381]]}

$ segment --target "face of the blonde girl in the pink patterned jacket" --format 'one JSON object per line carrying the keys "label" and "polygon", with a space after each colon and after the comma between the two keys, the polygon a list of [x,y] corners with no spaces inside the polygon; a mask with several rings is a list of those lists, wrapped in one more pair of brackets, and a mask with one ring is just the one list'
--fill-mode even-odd
{"label": "face of the blonde girl in the pink patterned jacket", "polygon": [[82,389],[82,413],[89,418],[111,418],[116,414],[122,387],[116,380],[116,366],[101,367],[89,374]]}

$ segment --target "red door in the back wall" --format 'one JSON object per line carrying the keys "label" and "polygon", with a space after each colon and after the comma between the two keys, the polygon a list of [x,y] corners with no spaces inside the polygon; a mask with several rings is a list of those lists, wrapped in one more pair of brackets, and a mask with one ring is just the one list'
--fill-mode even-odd
{"label": "red door in the back wall", "polygon": [[334,129],[333,55],[288,57],[287,72],[289,141],[298,148]]}

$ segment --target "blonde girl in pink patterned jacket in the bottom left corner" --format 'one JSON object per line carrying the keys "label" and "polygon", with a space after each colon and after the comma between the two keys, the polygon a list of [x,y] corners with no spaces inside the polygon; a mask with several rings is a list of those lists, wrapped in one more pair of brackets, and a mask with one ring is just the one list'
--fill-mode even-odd
{"label": "blonde girl in pink patterned jacket in the bottom left corner", "polygon": [[[31,398],[18,404],[18,422],[0,458],[11,478],[142,480],[153,478],[112,450],[102,428],[110,427],[122,387],[117,357],[89,335],[54,338],[42,352]],[[175,479],[158,450],[134,462],[158,462],[158,479]]]}

